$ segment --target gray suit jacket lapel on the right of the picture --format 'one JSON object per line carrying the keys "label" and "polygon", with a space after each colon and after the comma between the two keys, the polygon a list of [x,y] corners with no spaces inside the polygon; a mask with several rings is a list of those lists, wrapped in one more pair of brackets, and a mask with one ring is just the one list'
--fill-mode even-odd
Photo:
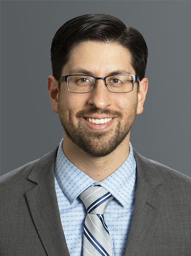
{"label": "gray suit jacket lapel on the right of the picture", "polygon": [[134,156],[137,164],[137,190],[125,256],[144,256],[163,207],[163,197],[157,193],[157,186],[163,185],[163,180],[148,159],[136,151]]}

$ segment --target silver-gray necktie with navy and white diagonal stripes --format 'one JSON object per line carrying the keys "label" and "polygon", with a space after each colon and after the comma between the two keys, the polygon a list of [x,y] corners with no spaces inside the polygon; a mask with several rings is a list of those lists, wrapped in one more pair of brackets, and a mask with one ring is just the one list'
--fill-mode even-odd
{"label": "silver-gray necktie with navy and white diagonal stripes", "polygon": [[79,197],[87,209],[83,256],[112,256],[111,239],[104,221],[104,212],[113,196],[101,186],[92,186],[82,192]]}

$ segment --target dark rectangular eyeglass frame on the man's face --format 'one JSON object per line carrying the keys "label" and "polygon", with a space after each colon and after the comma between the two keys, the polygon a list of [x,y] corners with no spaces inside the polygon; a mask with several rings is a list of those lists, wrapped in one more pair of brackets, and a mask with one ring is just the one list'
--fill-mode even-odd
{"label": "dark rectangular eyeglass frame on the man's face", "polygon": [[[117,76],[117,75],[125,75],[125,76],[132,76],[132,77],[133,77],[133,87],[132,87],[132,90],[131,90],[131,91],[128,91],[128,92],[132,92],[132,91],[133,91],[135,81],[138,81],[138,82],[140,81],[140,80],[139,80],[139,77],[138,77],[137,75],[130,75],[130,74],[114,74],[114,75],[109,75],[109,76]],[[68,77],[69,77],[69,76],[90,76],[90,75],[84,75],[84,74],[83,74],[83,75],[61,76],[59,82],[65,81],[65,82],[66,82],[66,86],[67,86],[67,90],[68,90],[69,92],[71,92],[71,91],[68,89]],[[104,80],[105,85],[106,85],[108,91],[110,91],[109,88],[108,88],[108,86],[107,86],[107,83],[106,83],[106,78],[109,77],[109,76],[106,76],[106,77],[90,76],[90,77],[93,77],[93,78],[95,79],[95,82],[94,82],[94,85],[93,85],[93,88],[92,88],[91,91],[93,91],[93,89],[94,89],[94,87],[95,87],[95,84],[96,84],[96,81],[97,81],[98,79]],[[89,91],[89,92],[91,92],[91,91]],[[71,92],[71,93],[89,93],[89,92]],[[112,91],[110,91],[110,92],[112,92]],[[128,93],[128,92],[113,92],[113,93]]]}

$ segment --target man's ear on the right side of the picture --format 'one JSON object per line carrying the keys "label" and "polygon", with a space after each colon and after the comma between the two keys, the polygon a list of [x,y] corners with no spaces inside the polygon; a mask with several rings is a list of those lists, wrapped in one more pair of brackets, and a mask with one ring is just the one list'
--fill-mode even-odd
{"label": "man's ear on the right side of the picture", "polygon": [[138,107],[137,107],[137,114],[141,114],[143,111],[143,104],[145,102],[145,97],[147,94],[148,89],[148,79],[143,78],[139,82],[139,91],[138,91]]}

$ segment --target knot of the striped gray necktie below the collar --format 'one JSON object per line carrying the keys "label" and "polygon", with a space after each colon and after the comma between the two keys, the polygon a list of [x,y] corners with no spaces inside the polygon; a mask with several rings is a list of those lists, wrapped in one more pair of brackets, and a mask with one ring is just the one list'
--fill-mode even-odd
{"label": "knot of the striped gray necktie below the collar", "polygon": [[79,198],[84,203],[88,213],[104,214],[113,196],[104,187],[93,186],[83,191]]}

